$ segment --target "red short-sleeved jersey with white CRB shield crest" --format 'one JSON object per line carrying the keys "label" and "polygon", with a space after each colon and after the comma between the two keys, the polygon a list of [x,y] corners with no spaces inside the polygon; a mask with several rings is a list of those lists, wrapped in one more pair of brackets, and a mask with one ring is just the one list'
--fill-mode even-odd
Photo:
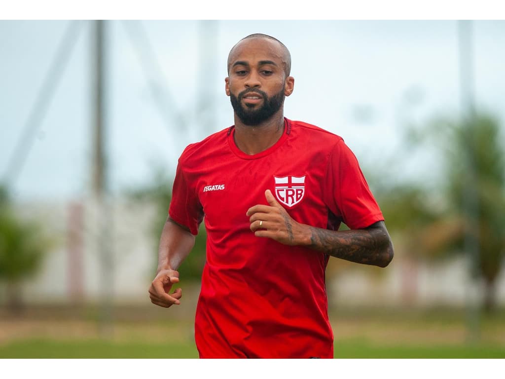
{"label": "red short-sleeved jersey with white CRB shield crest", "polygon": [[296,221],[338,230],[383,220],[341,137],[285,119],[275,145],[240,151],[233,126],[189,145],[169,214],[196,234],[204,219],[207,261],[196,307],[200,358],[333,358],[325,269],[329,256],[259,238],[246,211],[270,189]]}

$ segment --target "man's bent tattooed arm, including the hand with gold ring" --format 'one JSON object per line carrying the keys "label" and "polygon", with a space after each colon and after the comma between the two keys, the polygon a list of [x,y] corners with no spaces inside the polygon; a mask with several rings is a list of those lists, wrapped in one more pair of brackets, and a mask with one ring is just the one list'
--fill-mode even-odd
{"label": "man's bent tattooed arm, including the hand with gold ring", "polygon": [[384,221],[364,229],[317,228],[293,220],[269,189],[265,197],[269,205],[255,205],[247,211],[250,229],[258,237],[284,245],[307,246],[336,258],[380,267],[386,267],[393,259],[393,245]]}

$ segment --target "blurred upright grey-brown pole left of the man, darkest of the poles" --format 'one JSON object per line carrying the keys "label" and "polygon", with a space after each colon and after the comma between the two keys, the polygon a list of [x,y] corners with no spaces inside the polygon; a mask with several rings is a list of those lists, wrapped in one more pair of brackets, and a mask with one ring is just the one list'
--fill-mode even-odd
{"label": "blurred upright grey-brown pole left of the man, darkest of the poles", "polygon": [[100,314],[99,329],[103,337],[112,334],[112,295],[114,286],[113,259],[111,251],[112,210],[108,194],[107,156],[106,156],[106,118],[105,118],[105,74],[106,22],[93,21],[94,67],[92,96],[94,101],[93,156],[92,156],[92,194],[96,205],[96,252],[100,263]]}

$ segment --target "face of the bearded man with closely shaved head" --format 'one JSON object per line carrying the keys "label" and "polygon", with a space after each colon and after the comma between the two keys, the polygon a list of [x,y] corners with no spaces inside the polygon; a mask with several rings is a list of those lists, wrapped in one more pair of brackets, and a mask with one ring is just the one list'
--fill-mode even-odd
{"label": "face of the bearded man with closely shaved head", "polygon": [[230,54],[226,93],[235,114],[245,125],[258,125],[272,117],[293,90],[285,76],[283,50],[267,38],[241,41]]}

